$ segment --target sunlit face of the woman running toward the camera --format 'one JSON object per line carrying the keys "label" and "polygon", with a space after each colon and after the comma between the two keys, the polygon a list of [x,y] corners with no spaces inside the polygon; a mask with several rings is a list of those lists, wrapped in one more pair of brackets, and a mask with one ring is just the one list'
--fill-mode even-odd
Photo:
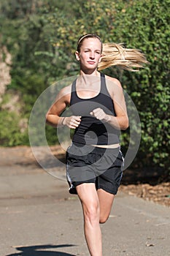
{"label": "sunlit face of the woman running toward the camera", "polygon": [[85,38],[80,48],[80,53],[76,52],[76,58],[80,61],[82,69],[96,69],[101,60],[101,42],[97,38]]}

